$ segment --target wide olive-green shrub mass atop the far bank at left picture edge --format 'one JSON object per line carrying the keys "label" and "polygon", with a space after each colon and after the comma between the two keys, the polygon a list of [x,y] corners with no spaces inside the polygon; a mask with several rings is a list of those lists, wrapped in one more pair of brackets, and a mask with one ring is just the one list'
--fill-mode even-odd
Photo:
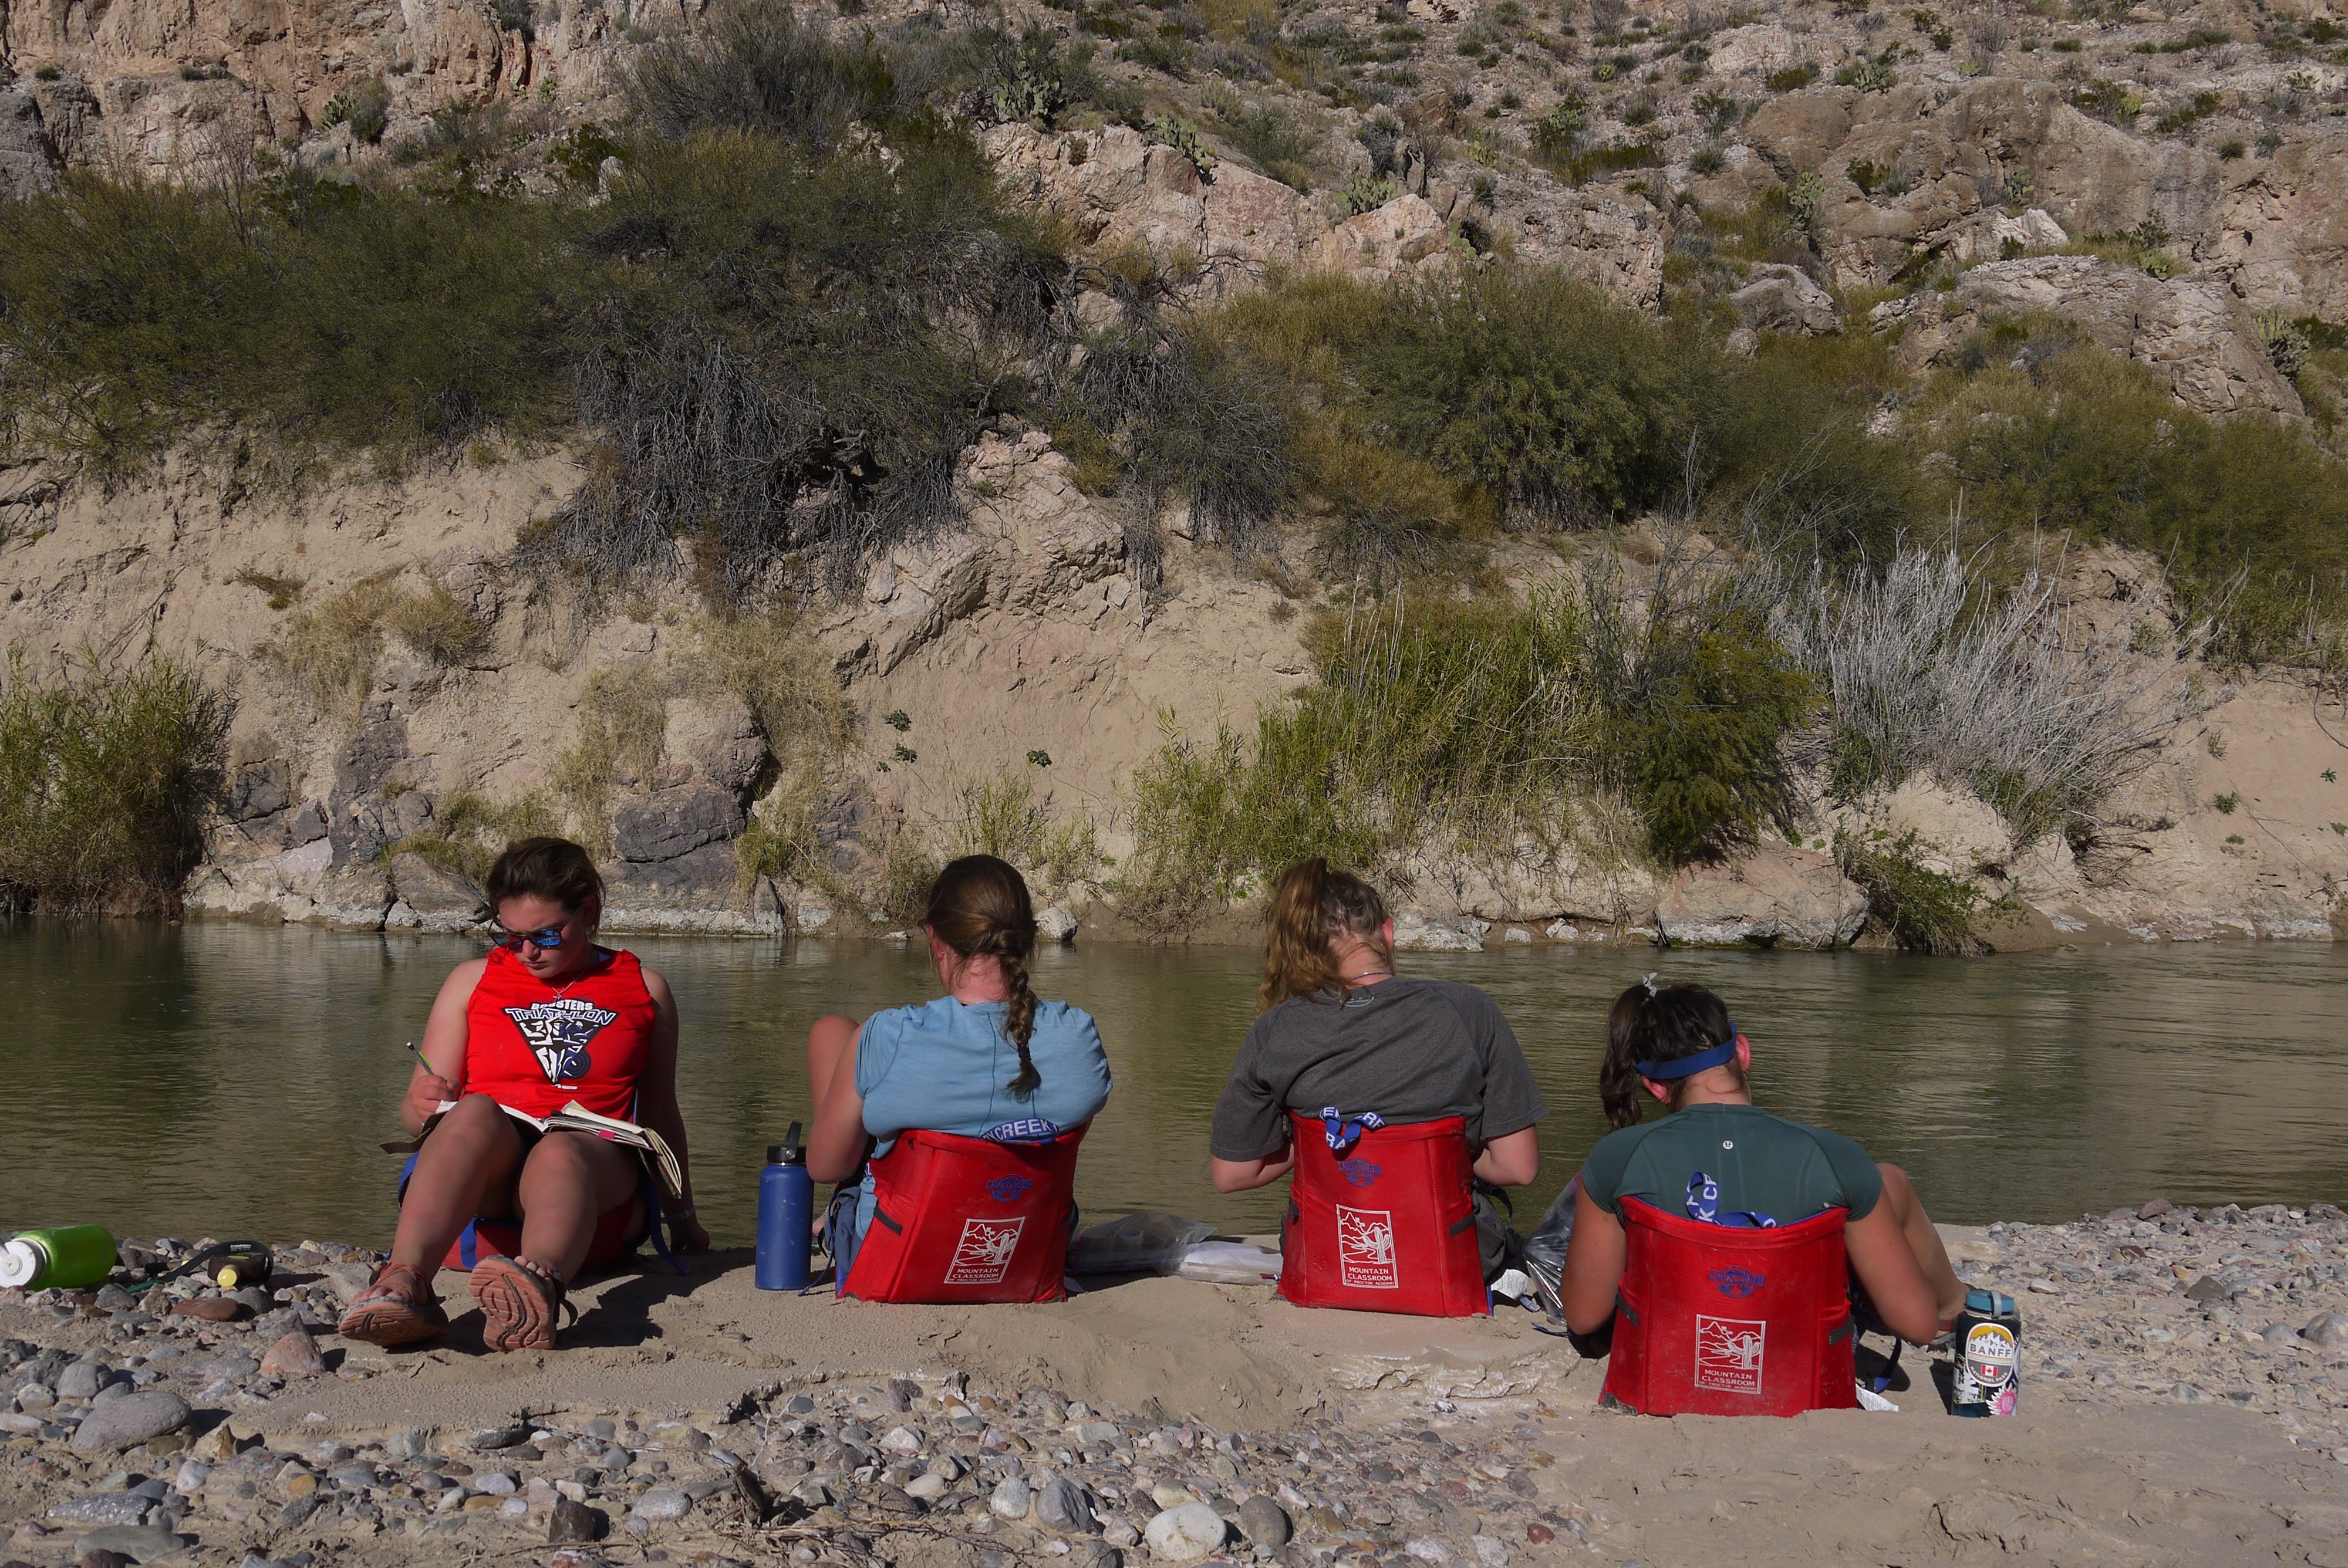
{"label": "wide olive-green shrub mass atop the far bank at left picture edge", "polygon": [[0,204],[0,441],[129,474],[207,427],[448,455],[564,413],[556,207],[75,176]]}

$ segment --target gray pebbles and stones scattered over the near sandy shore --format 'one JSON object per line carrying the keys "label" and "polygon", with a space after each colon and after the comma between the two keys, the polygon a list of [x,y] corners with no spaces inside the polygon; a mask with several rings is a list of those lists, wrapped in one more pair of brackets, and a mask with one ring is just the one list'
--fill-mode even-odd
{"label": "gray pebbles and stones scattered over the near sandy shore", "polygon": [[[1958,1272],[2022,1303],[2024,1415],[2238,1406],[2310,1458],[2348,1465],[2348,1216],[2336,1207],[2155,1199],[2071,1225],[1946,1228],[1946,1239]],[[465,1378],[474,1357],[460,1340],[418,1354],[333,1338],[373,1253],[286,1249],[272,1289],[221,1293],[162,1277],[178,1251],[124,1244],[127,1268],[101,1291],[0,1298],[9,1563],[308,1568],[549,1547],[556,1568],[775,1556],[841,1568],[1059,1556],[1082,1568],[1505,1568],[1585,1547],[1618,1556],[1606,1535],[1620,1512],[1561,1491],[1552,1467],[1559,1422],[1587,1420],[1604,1437],[1637,1418],[1594,1413],[1597,1366],[1564,1338],[1519,1345],[1531,1354],[1510,1378],[1381,1376],[1369,1392],[1322,1394],[1249,1430],[1158,1397],[1132,1408],[1075,1387],[1080,1378],[1047,1387],[960,1371],[951,1345],[925,1368],[876,1366],[869,1352],[831,1371],[784,1359],[780,1376],[744,1373],[718,1401],[679,1383],[667,1408],[613,1404],[585,1378],[599,1350],[566,1345],[538,1359],[561,1373],[580,1357],[575,1399],[460,1427],[416,1422],[413,1397],[397,1392],[425,1371],[420,1359]],[[1226,1307],[1268,1303],[1268,1291],[1162,1284],[1195,1289],[1195,1307],[1216,1305],[1214,1293]],[[1047,1317],[1028,1324],[1052,1333]],[[721,1333],[744,1347],[758,1338],[733,1324]],[[1134,1329],[1136,1345],[1148,1338]],[[1909,1352],[1907,1368],[1914,1383],[1895,1399],[1935,1413],[1923,1357]],[[336,1383],[373,1383],[380,1420],[317,1413]],[[2019,1430],[1968,1422],[1958,1437],[1991,1425]]]}

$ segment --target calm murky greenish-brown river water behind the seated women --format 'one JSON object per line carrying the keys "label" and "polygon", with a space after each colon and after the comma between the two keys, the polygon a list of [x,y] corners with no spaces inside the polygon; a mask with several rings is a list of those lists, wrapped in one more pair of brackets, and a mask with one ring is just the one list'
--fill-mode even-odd
{"label": "calm murky greenish-brown river water behind the seated women", "polygon": [[[808,1115],[824,1012],[935,993],[878,944],[632,941],[683,1009],[702,1218],[747,1244],[763,1150]],[[387,1244],[394,1106],[460,937],[0,920],[0,1223]],[[1491,991],[1550,1101],[1531,1228],[1604,1131],[1606,1007],[1641,969],[1728,998],[1754,1091],[1904,1164],[1944,1221],[2174,1202],[2348,1202],[2348,951],[2205,944],[1986,960],[1517,948],[1406,955]],[[1162,1209],[1277,1228],[1277,1188],[1221,1197],[1207,1127],[1254,1016],[1235,948],[1038,955],[1087,1007],[1118,1091],[1085,1141],[1087,1216]]]}

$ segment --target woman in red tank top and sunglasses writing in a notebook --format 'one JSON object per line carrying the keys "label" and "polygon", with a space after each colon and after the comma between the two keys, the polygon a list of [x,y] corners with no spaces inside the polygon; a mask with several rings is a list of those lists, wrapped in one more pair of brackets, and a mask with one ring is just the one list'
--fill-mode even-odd
{"label": "woman in red tank top and sunglasses writing in a notebook", "polygon": [[[641,1204],[636,1155],[582,1131],[540,1134],[507,1110],[545,1117],[578,1101],[657,1131],[679,1164],[676,1002],[634,953],[599,948],[603,880],[564,838],[524,838],[488,873],[498,946],[458,965],[432,1002],[423,1056],[399,1120],[430,1134],[399,1202],[392,1256],[359,1291],[338,1333],[369,1345],[432,1338],[448,1314],[432,1275],[474,1216],[519,1218],[521,1253],[481,1258],[472,1298],[491,1350],[545,1350],[564,1284],[596,1225]],[[444,1101],[456,1101],[434,1120]],[[709,1235],[686,1199],[667,1214],[679,1251]]]}

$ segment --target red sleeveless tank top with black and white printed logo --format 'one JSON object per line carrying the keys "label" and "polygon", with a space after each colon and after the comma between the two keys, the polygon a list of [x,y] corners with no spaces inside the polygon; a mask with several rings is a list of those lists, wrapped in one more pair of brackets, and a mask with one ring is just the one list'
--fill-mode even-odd
{"label": "red sleeveless tank top with black and white printed logo", "polygon": [[653,1054],[653,993],[634,953],[608,951],[587,974],[547,986],[505,948],[465,1002],[465,1091],[526,1115],[571,1101],[632,1120]]}

